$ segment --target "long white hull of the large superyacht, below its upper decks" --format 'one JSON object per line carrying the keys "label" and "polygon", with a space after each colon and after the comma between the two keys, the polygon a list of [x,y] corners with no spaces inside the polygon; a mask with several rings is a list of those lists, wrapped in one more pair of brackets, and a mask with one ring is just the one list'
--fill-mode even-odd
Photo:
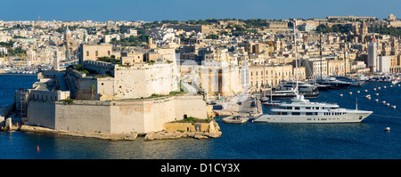
{"label": "long white hull of the large superyacht, below its upper decks", "polygon": [[372,111],[351,110],[345,115],[338,116],[283,116],[283,115],[262,115],[254,122],[266,123],[307,123],[307,124],[327,124],[327,123],[359,123],[364,118],[372,114]]}

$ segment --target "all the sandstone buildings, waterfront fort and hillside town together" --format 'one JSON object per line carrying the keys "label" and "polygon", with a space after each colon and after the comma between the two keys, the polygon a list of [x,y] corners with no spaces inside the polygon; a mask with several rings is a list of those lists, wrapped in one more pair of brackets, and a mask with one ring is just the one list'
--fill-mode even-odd
{"label": "all the sandstone buildings, waterfront fort and hillside town together", "polygon": [[[205,102],[272,91],[283,80],[396,75],[400,36],[401,20],[392,14],[384,20],[0,21],[0,73],[37,74],[32,89],[15,94],[25,125],[150,133],[183,117],[208,119],[216,112]],[[225,109],[238,110],[235,103]],[[218,131],[205,126],[175,130]]]}

